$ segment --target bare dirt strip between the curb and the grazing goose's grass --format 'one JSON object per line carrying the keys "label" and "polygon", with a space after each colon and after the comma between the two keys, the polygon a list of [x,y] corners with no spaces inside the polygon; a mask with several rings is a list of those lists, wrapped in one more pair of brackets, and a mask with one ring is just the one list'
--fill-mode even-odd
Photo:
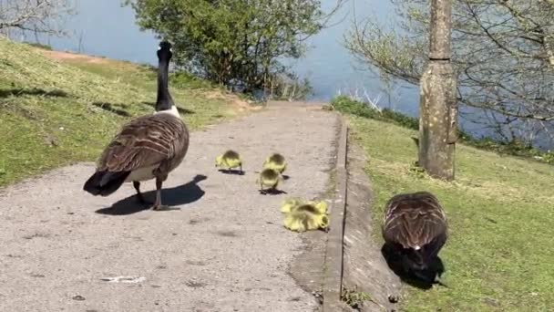
{"label": "bare dirt strip between the curb and the grazing goose's grass", "polygon": [[371,297],[361,311],[391,311],[390,297],[399,297],[401,282],[388,268],[375,244],[376,231],[372,217],[374,196],[371,182],[364,172],[364,151],[354,143],[348,149],[348,192],[344,224],[343,289],[356,289]]}

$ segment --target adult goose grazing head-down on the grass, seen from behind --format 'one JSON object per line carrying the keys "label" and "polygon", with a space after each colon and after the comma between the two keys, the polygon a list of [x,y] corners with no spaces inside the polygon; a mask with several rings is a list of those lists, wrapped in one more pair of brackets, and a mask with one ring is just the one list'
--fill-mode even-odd
{"label": "adult goose grazing head-down on the grass, seen from behind", "polygon": [[386,203],[385,244],[399,252],[404,269],[416,276],[417,271],[433,269],[446,232],[446,213],[430,192],[398,194]]}

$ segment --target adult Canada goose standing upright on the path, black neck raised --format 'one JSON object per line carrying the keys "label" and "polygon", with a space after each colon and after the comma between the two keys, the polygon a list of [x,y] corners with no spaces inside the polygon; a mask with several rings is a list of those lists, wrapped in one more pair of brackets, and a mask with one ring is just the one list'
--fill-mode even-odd
{"label": "adult Canada goose standing upright on the path, black neck raised", "polygon": [[189,149],[189,130],[169,94],[168,70],[171,44],[159,43],[158,98],[156,112],[131,120],[101,154],[97,171],[83,189],[93,195],[108,196],[124,182],[133,182],[139,201],[146,203],[140,182],[156,179],[156,201],[161,204],[161,186],[169,172],[177,168]]}

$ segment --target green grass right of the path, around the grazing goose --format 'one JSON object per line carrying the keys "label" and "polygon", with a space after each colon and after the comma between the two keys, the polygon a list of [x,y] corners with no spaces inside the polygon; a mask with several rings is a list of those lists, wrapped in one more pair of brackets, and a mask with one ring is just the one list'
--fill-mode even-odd
{"label": "green grass right of the path, around the grazing goose", "polygon": [[[374,223],[399,192],[436,193],[450,237],[440,256],[449,287],[405,286],[406,311],[547,311],[554,293],[552,166],[457,144],[456,182],[439,182],[413,167],[415,130],[347,114],[351,140],[364,147]],[[369,207],[368,207],[369,208]],[[380,235],[374,239],[382,243]]]}

